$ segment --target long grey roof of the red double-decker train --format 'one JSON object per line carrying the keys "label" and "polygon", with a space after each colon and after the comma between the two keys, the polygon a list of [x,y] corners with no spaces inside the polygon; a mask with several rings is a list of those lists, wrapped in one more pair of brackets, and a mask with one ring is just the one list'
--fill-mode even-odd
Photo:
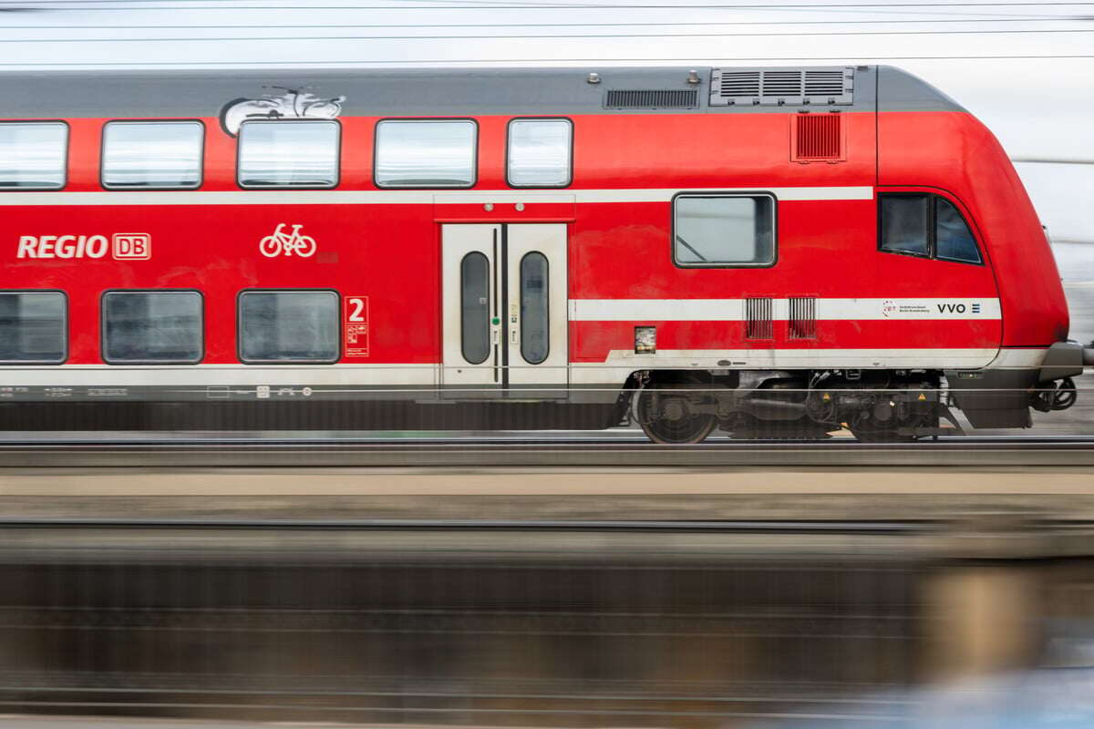
{"label": "long grey roof of the red double-decker train", "polygon": [[894,67],[590,67],[0,73],[7,119],[214,117],[286,90],[344,116],[964,110]]}

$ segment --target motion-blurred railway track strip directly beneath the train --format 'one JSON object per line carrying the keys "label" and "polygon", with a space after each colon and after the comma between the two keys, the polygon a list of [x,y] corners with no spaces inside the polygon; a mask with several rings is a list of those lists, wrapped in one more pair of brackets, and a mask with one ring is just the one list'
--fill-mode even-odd
{"label": "motion-blurred railway track strip directly beneath the train", "polygon": [[195,436],[0,442],[0,468],[1092,466],[1094,436],[940,437],[904,444],[734,440],[660,446],[641,436]]}

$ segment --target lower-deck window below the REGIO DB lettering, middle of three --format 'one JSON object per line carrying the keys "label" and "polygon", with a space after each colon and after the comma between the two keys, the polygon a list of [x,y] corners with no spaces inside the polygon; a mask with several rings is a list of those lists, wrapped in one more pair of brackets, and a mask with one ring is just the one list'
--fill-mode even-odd
{"label": "lower-deck window below the REGIO DB lettering, middle of three", "polygon": [[109,364],[195,364],[203,351],[201,294],[103,294],[103,360]]}

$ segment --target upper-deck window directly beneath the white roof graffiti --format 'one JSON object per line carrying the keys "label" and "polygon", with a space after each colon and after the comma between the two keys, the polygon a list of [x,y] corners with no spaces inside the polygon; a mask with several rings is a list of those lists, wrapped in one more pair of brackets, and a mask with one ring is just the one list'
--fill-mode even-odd
{"label": "upper-deck window directly beneath the white roof graffiti", "polygon": [[338,184],[341,127],[337,121],[244,121],[240,126],[240,187],[322,188]]}

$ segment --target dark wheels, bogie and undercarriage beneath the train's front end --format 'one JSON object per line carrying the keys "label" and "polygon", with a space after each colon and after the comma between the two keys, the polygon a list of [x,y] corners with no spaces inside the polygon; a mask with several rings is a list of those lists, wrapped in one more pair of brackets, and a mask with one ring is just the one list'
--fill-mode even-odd
{"label": "dark wheels, bogie and undercarriage beneath the train's front end", "polygon": [[947,373],[932,371],[644,372],[633,385],[627,418],[661,444],[700,443],[715,430],[818,439],[846,428],[861,442],[910,442],[961,434],[953,410],[966,403],[977,413],[974,426],[1027,427],[1031,408],[1066,410],[1076,400],[1070,377],[955,391]]}

